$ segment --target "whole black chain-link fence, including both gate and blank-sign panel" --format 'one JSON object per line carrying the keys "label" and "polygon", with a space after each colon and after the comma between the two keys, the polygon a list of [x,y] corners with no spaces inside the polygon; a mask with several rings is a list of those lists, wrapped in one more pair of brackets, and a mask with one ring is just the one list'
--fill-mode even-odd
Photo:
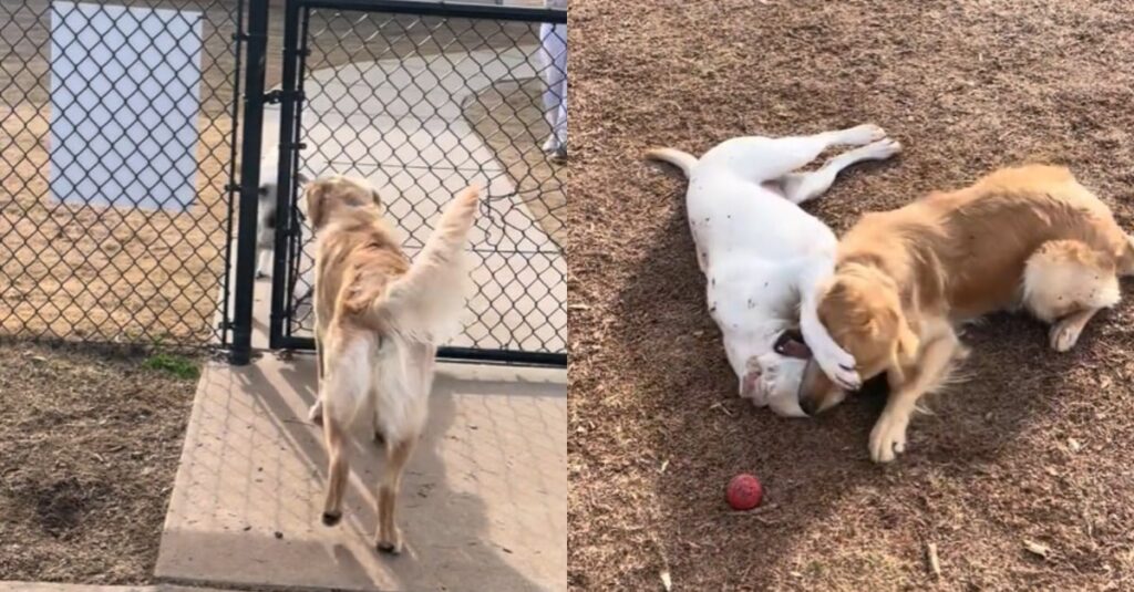
{"label": "whole black chain-link fence, including both gate and blank-sign panel", "polygon": [[[441,355],[566,364],[565,175],[542,150],[565,60],[541,43],[564,23],[443,2],[0,0],[0,337],[240,364],[264,314],[270,347],[312,347],[302,171],[371,179],[411,255],[457,189],[488,187],[469,323]],[[279,185],[270,316],[253,298],[262,181]]]}

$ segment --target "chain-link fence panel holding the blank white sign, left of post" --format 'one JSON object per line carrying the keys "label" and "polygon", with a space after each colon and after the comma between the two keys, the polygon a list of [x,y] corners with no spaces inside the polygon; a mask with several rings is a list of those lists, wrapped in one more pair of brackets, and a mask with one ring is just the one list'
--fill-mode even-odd
{"label": "chain-link fence panel holding the blank white sign, left of post", "polygon": [[237,0],[0,0],[0,332],[227,342]]}

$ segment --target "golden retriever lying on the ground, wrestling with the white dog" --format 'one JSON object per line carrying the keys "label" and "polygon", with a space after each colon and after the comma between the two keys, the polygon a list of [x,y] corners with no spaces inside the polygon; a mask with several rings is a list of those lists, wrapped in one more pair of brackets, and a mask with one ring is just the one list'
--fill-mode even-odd
{"label": "golden retriever lying on the ground, wrestling with the white dog", "polygon": [[[1134,244],[1110,210],[1063,167],[998,170],[974,185],[870,213],[839,242],[818,314],[862,379],[887,373],[890,395],[870,435],[874,462],[905,449],[917,400],[939,388],[967,349],[956,323],[1023,307],[1070,349],[1086,322],[1119,301]],[[845,397],[810,371],[802,405]]]}

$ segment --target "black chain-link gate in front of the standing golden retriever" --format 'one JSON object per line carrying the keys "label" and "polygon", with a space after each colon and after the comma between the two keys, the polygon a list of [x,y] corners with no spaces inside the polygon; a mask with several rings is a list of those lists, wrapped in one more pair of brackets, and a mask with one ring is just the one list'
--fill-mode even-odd
{"label": "black chain-link gate in front of the standing golden retriever", "polygon": [[295,179],[337,174],[379,187],[411,255],[457,191],[486,187],[472,314],[440,355],[566,364],[566,187],[547,116],[566,58],[552,54],[566,39],[550,36],[564,23],[561,10],[289,0],[282,84],[270,94],[289,229],[277,236],[273,348],[313,347],[312,231]]}

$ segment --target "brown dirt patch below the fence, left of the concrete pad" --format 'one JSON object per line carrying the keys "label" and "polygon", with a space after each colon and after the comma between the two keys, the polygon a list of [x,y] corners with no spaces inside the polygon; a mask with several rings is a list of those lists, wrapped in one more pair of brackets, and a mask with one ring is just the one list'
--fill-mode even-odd
{"label": "brown dirt patch below the fence, left of the concrete pad", "polygon": [[0,581],[152,581],[196,380],[0,340]]}

